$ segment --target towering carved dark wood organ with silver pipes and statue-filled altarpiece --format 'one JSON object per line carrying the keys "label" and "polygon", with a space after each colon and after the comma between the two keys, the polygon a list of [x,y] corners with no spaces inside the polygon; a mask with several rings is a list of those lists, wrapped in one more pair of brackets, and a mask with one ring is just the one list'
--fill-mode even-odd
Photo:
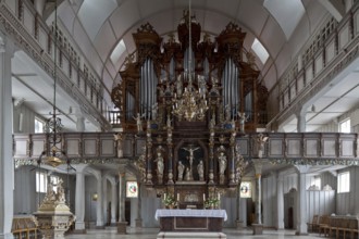
{"label": "towering carved dark wood organ with silver pipes and statue-filled altarpiece", "polygon": [[185,12],[166,42],[149,23],[133,36],[137,51],[112,100],[124,131],[144,139],[144,183],[191,204],[235,187],[236,139],[267,123],[268,91],[243,48],[246,34],[230,23],[213,38]]}

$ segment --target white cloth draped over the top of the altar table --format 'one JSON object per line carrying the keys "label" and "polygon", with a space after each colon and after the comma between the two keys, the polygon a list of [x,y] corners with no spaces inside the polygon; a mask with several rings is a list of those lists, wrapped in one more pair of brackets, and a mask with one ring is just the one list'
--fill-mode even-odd
{"label": "white cloth draped over the top of the altar table", "polygon": [[159,217],[222,217],[227,221],[225,210],[157,210],[154,218]]}

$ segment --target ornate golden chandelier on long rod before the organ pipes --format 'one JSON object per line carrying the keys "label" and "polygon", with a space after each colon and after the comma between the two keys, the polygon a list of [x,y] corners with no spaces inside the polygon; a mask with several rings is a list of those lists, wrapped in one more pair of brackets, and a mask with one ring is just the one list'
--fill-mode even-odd
{"label": "ornate golden chandelier on long rod before the organ pipes", "polygon": [[[189,47],[188,47],[188,71],[184,73],[183,80],[187,81],[187,86],[184,88],[184,92],[178,95],[174,93],[172,99],[173,109],[172,113],[182,121],[183,118],[188,122],[203,121],[207,105],[207,84],[205,77],[197,76],[197,87],[193,83],[195,73],[191,71],[191,12],[190,0],[188,10],[188,33],[189,33]],[[181,79],[178,79],[181,80]]]}

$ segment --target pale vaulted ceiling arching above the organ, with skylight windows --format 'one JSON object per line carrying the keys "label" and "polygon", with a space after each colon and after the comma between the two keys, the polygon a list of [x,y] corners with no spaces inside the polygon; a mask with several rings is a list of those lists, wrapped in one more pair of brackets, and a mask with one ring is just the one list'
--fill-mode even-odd
{"label": "pale vaulted ceiling arching above the organ, with skylight windows", "polygon": [[[259,40],[268,51],[269,60],[257,62],[262,74],[270,75],[265,84],[271,89],[290,62],[288,59],[292,60],[329,15],[333,4],[321,2],[193,0],[190,5],[205,33],[215,36],[234,22],[247,32],[247,50],[256,38]],[[125,58],[135,51],[132,34],[149,22],[165,38],[176,30],[183,11],[188,7],[189,1],[185,0],[70,0],[60,4],[58,15],[111,89]]]}

